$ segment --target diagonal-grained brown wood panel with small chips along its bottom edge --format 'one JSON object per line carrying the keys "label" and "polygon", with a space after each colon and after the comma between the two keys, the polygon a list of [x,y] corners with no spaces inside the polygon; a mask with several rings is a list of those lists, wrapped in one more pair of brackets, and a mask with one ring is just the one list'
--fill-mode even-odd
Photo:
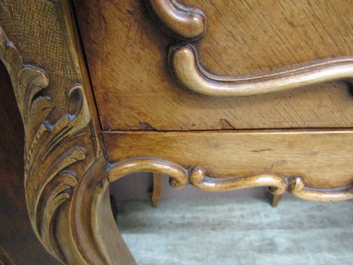
{"label": "diagonal-grained brown wood panel with small chips along its bottom edge", "polygon": [[[262,73],[352,56],[351,1],[179,0],[207,18],[193,42],[214,75]],[[142,0],[74,0],[101,123],[105,130],[210,130],[352,127],[347,82],[243,98],[184,90],[168,66],[177,40]]]}

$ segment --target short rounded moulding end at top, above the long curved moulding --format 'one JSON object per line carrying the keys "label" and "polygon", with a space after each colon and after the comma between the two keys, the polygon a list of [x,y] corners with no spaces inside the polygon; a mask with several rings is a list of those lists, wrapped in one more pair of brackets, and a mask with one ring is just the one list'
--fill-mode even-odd
{"label": "short rounded moulding end at top, above the long curved moulding", "polygon": [[197,40],[206,32],[206,17],[197,8],[183,6],[174,0],[146,0],[146,4],[162,26],[180,40]]}

